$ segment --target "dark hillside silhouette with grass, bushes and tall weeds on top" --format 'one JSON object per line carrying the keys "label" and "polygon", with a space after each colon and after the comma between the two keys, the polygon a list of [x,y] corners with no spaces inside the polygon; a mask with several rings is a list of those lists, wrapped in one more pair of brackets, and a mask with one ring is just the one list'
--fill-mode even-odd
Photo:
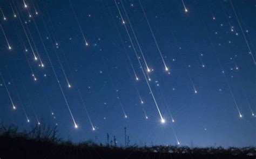
{"label": "dark hillside silhouette with grass, bushes and tall weeds on top", "polygon": [[[126,131],[126,129],[125,129]],[[125,137],[126,138],[126,137]],[[114,137],[116,140],[116,137]],[[127,141],[126,141],[127,142]],[[117,146],[92,140],[73,143],[59,138],[57,127],[36,125],[29,132],[0,125],[0,158],[255,158],[255,147]]]}

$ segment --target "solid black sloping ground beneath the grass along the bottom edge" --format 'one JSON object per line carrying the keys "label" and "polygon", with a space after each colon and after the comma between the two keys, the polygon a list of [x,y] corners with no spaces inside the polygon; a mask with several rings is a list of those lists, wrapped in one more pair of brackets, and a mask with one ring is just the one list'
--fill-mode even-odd
{"label": "solid black sloping ground beneath the grass along the bottom edge", "polygon": [[115,147],[88,144],[72,144],[71,142],[49,142],[35,139],[10,138],[0,136],[0,158],[253,158],[245,154],[203,155],[195,153],[153,153],[138,149],[121,149]]}

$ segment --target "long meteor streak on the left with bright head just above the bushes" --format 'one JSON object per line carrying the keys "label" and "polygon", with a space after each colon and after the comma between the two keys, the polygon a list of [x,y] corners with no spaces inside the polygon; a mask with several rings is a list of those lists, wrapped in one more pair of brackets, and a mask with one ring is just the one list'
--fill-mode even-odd
{"label": "long meteor streak on the left with bright head just above the bushes", "polygon": [[[43,19],[42,16],[41,16],[41,18],[42,18],[42,20],[43,20],[43,22],[44,22],[44,19]],[[44,22],[44,25],[45,25],[45,22]],[[45,27],[46,27],[46,25],[45,25]],[[44,47],[44,48],[45,48],[45,47]],[[45,49],[46,49],[46,48],[45,48]],[[50,64],[51,64],[51,68],[52,68],[53,74],[55,75],[56,81],[57,81],[57,83],[58,83],[58,85],[59,85],[59,89],[60,89],[60,91],[62,92],[62,96],[63,96],[63,98],[64,98],[64,100],[65,100],[65,104],[66,104],[66,106],[68,107],[69,113],[70,113],[71,118],[72,118],[73,123],[74,123],[74,126],[75,126],[75,128],[78,128],[78,125],[76,124],[75,118],[73,117],[73,114],[72,114],[72,112],[71,112],[71,109],[70,109],[68,100],[66,100],[65,93],[64,93],[64,91],[63,91],[63,89],[62,89],[62,86],[60,85],[58,76],[57,76],[57,74],[56,74],[55,68],[53,67],[53,64],[52,64],[52,62],[51,62],[51,59],[50,59],[50,56],[49,56],[48,52],[46,52],[46,55],[47,55],[48,60],[49,60],[49,62],[50,62]]]}

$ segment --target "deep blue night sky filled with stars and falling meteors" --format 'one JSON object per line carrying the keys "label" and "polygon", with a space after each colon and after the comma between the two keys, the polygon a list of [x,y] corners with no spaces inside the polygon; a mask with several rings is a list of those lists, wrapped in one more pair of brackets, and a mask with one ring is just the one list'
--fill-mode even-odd
{"label": "deep blue night sky filled with stars and falling meteors", "polygon": [[256,146],[255,1],[0,8],[5,125],[57,125],[74,142],[124,145],[126,127],[139,146]]}

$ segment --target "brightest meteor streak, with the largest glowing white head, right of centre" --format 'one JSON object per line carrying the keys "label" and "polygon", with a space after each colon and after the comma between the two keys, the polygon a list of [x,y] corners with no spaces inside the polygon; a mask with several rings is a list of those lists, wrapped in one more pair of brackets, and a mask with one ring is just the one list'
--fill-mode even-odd
{"label": "brightest meteor streak, with the largest glowing white head, right of centre", "polygon": [[[117,7],[118,7],[118,6],[117,6]],[[152,92],[152,90],[151,90],[150,84],[149,84],[149,82],[147,81],[147,77],[146,77],[146,75],[145,75],[145,73],[144,73],[144,69],[143,69],[143,67],[142,67],[142,64],[140,63],[140,60],[139,60],[139,57],[138,57],[137,51],[136,51],[136,49],[135,49],[135,47],[134,47],[133,41],[132,41],[132,39],[131,39],[130,33],[129,33],[129,31],[127,30],[126,25],[124,25],[124,27],[125,27],[125,31],[126,31],[126,33],[127,33],[128,37],[129,37],[129,40],[130,40],[130,42],[131,42],[132,48],[133,48],[133,50],[134,50],[134,53],[135,53],[135,54],[136,54],[136,56],[137,56],[137,59],[138,59],[138,62],[139,62],[140,68],[142,69],[143,75],[144,75],[144,77],[145,77],[145,80],[146,80],[147,86],[149,86],[149,89],[150,89],[150,92],[151,92],[151,96],[152,96],[152,98],[153,98],[153,100],[154,100],[154,103],[156,104],[156,107],[157,107],[158,113],[159,113],[160,118],[161,118],[161,122],[162,122],[162,123],[164,123],[164,122],[165,122],[165,119],[164,119],[164,118],[162,117],[162,115],[161,115],[161,112],[160,112],[160,110],[159,110],[158,104],[157,104],[156,99],[154,98],[153,92]]]}

